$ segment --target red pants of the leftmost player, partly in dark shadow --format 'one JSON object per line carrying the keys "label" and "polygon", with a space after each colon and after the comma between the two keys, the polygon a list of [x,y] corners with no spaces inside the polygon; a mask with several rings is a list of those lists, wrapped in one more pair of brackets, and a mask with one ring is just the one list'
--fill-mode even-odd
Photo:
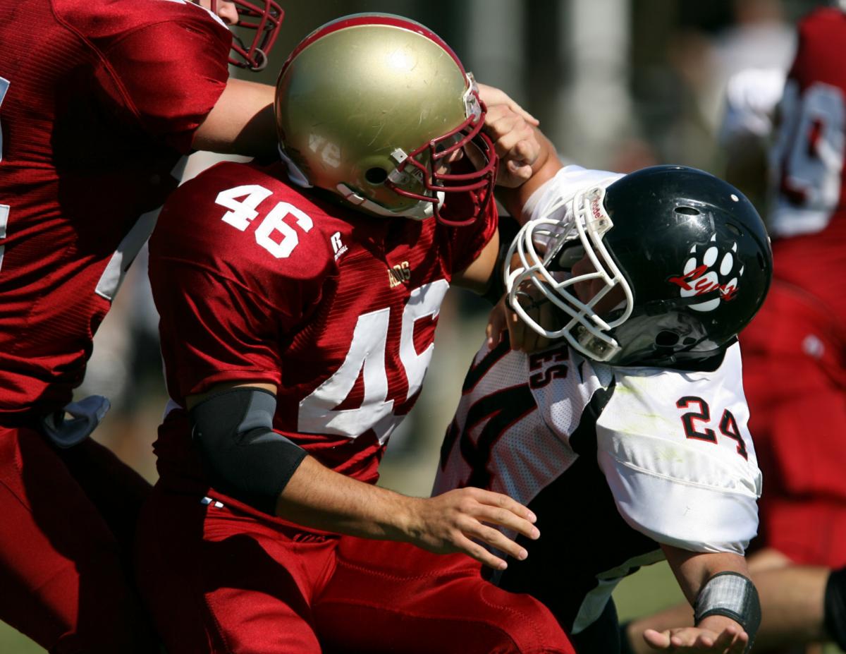
{"label": "red pants of the leftmost player, partly in dark shadow", "polygon": [[0,426],[0,619],[55,654],[157,652],[115,537],[133,535],[149,485],[91,439],[63,457]]}

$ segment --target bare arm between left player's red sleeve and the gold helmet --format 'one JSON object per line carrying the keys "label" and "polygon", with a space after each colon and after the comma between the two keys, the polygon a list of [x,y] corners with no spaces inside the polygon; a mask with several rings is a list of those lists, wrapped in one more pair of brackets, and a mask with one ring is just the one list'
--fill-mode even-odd
{"label": "bare arm between left player's red sleeve and the gold helmet", "polygon": [[217,104],[197,128],[197,150],[272,156],[277,152],[273,86],[230,79]]}

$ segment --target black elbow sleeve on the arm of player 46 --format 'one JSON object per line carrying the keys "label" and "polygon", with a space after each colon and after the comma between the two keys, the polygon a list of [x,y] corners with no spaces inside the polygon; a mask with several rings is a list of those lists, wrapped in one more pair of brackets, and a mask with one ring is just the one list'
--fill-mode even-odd
{"label": "black elbow sleeve on the arm of player 46", "polygon": [[188,413],[212,488],[269,515],[305,450],[273,431],[276,396],[239,386],[206,397]]}

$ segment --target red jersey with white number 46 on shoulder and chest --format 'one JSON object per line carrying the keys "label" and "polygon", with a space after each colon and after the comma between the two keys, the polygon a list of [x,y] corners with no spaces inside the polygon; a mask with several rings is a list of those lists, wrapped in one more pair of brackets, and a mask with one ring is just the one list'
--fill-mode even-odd
{"label": "red jersey with white number 46 on shoulder and chest", "polygon": [[[490,206],[448,228],[323,202],[289,186],[282,164],[209,169],[168,200],[150,241],[170,396],[184,407],[222,381],[277,385],[275,430],[375,481],[419,395],[449,281],[497,229]],[[160,465],[190,447],[179,413],[160,430]]]}

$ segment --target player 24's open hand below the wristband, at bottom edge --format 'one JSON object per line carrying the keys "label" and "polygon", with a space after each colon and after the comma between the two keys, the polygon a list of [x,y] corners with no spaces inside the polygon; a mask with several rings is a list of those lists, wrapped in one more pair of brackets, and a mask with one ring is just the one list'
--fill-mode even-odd
{"label": "player 24's open hand below the wristband, at bottom edge", "polygon": [[709,616],[699,627],[655,631],[646,629],[643,640],[653,650],[672,651],[674,654],[687,652],[713,652],[713,654],[743,654],[749,642],[749,635],[731,618]]}

